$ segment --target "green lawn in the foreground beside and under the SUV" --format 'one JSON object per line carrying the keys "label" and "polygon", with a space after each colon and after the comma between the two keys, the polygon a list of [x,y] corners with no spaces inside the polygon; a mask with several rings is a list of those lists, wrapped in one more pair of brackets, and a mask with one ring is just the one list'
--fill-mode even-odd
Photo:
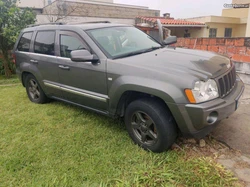
{"label": "green lawn in the foreground beside and under the SUV", "polygon": [[212,158],[135,146],[123,123],[0,87],[0,186],[237,186]]}

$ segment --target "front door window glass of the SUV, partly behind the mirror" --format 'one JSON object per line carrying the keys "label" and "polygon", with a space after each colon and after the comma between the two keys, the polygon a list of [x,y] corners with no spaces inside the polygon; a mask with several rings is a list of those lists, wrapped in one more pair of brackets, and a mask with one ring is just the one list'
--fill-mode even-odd
{"label": "front door window glass of the SUV, partly behind the mirror", "polygon": [[60,35],[61,57],[70,58],[71,51],[85,49],[83,43],[74,36]]}

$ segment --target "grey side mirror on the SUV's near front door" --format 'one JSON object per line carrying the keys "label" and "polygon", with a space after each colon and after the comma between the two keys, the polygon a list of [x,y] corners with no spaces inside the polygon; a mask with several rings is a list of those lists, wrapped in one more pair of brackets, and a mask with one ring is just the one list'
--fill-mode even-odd
{"label": "grey side mirror on the SUV's near front door", "polygon": [[97,62],[99,60],[86,49],[71,51],[70,55],[73,62]]}

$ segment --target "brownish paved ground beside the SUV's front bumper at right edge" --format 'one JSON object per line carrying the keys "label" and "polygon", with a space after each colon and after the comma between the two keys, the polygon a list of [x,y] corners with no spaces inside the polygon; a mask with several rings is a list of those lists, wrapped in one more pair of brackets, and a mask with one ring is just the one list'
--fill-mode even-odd
{"label": "brownish paved ground beside the SUV's front bumper at right edge", "polygon": [[212,135],[230,147],[250,155],[250,85],[245,87],[238,110],[223,120]]}

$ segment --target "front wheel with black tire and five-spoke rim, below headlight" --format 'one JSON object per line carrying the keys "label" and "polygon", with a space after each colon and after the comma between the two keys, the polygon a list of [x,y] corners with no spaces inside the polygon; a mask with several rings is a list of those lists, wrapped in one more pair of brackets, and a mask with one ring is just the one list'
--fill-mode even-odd
{"label": "front wheel with black tire and five-spoke rim, below headlight", "polygon": [[168,108],[159,100],[144,98],[129,104],[125,125],[135,144],[160,153],[168,150],[177,138],[177,126]]}

